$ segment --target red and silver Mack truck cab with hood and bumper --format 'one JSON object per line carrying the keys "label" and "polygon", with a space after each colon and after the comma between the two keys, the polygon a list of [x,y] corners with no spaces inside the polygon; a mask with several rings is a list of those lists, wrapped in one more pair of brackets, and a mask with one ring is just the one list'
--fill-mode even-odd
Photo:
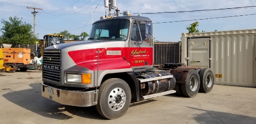
{"label": "red and silver Mack truck cab with hood and bumper", "polygon": [[151,70],[153,42],[143,41],[147,22],[152,21],[141,16],[98,20],[89,40],[47,47],[43,53],[42,96],[61,104],[91,106],[97,102],[96,87],[104,78]]}

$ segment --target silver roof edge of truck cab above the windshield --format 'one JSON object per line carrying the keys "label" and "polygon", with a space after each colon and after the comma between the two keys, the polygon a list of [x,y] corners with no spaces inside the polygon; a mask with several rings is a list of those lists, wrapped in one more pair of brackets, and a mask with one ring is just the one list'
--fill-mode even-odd
{"label": "silver roof edge of truck cab above the windshield", "polygon": [[108,19],[103,19],[103,20],[97,20],[94,23],[98,23],[101,21],[105,21],[105,20],[116,20],[116,19],[128,19],[128,20],[144,20],[144,21],[151,21],[148,17],[143,17],[143,16],[118,16],[118,17],[112,17],[112,18],[108,18]]}

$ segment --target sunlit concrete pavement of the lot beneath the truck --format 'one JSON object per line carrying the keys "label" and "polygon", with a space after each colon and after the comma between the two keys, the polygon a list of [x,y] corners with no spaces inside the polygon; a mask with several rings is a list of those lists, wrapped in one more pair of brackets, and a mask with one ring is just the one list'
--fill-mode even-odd
{"label": "sunlit concrete pavement of the lot beneath the truck", "polygon": [[214,85],[194,98],[169,94],[130,105],[108,120],[95,106],[75,107],[41,97],[42,73],[0,76],[0,124],[256,124],[256,88]]}

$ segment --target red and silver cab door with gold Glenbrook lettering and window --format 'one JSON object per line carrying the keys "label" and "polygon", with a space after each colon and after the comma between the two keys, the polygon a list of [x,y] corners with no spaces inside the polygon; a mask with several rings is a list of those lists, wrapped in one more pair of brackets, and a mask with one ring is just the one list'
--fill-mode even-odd
{"label": "red and silver cab door with gold Glenbrook lettering and window", "polygon": [[129,39],[131,67],[146,68],[153,65],[153,42],[147,43],[145,39],[145,23],[133,21]]}

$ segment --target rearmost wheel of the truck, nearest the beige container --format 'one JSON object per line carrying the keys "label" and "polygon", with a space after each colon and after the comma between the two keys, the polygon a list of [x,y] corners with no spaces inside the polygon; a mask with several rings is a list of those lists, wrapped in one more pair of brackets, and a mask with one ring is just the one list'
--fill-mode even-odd
{"label": "rearmost wheel of the truck, nearest the beige container", "polygon": [[214,85],[214,75],[211,69],[203,68],[199,72],[200,76],[200,91],[201,92],[210,92]]}

